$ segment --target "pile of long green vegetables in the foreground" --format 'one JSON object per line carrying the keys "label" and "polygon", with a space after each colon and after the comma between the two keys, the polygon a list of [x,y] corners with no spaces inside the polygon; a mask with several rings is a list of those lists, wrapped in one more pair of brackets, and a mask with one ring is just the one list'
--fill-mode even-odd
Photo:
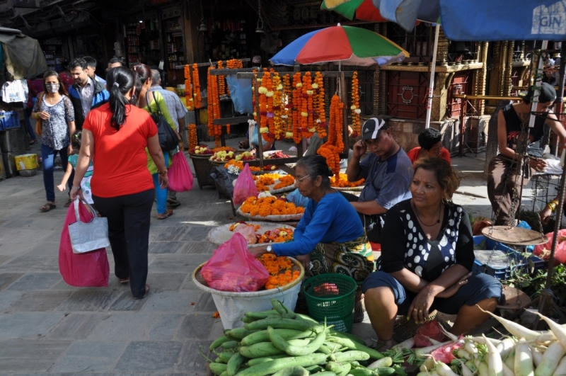
{"label": "pile of long green vegetables in the foreground", "polygon": [[406,375],[362,339],[295,314],[278,300],[271,302],[273,309],[246,312],[243,328],[226,330],[212,342],[214,361],[201,351],[215,375]]}

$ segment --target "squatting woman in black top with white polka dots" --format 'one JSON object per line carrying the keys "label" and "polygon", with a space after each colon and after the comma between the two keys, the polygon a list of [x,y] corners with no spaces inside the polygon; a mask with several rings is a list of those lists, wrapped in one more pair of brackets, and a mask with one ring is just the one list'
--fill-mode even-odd
{"label": "squatting woman in black top with white polka dots", "polygon": [[[459,178],[439,157],[419,159],[412,198],[386,215],[377,271],[364,282],[366,310],[381,350],[393,346],[395,317],[424,322],[437,309],[457,314],[451,332],[470,334],[493,312],[501,283],[485,273],[470,273],[474,263],[468,214],[452,203]],[[380,347],[380,345],[378,345]]]}

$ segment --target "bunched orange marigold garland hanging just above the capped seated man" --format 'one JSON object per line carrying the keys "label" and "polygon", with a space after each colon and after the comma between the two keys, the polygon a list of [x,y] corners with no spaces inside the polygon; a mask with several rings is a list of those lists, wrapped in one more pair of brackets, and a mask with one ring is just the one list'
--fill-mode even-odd
{"label": "bunched orange marigold garland hanging just above the capped seated man", "polygon": [[342,142],[342,110],[344,103],[337,95],[330,102],[330,124],[328,125],[328,141],[319,149],[318,154],[324,156],[326,164],[333,171],[337,186],[340,185],[340,153],[344,150]]}

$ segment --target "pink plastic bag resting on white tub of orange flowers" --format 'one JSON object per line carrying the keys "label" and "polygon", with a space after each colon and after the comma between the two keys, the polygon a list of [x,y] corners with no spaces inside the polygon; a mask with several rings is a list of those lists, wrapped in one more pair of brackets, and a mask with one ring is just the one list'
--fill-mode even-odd
{"label": "pink plastic bag resting on white tub of orange flowers", "polygon": [[270,278],[265,266],[248,251],[242,234],[219,246],[200,270],[209,287],[222,291],[258,291]]}

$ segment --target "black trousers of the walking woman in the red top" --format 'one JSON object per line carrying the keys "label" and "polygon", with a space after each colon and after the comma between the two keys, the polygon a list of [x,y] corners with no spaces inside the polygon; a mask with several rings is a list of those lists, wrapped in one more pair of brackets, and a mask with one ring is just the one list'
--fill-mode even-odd
{"label": "black trousers of the walking woman in the red top", "polygon": [[117,278],[128,278],[134,297],[146,293],[149,221],[154,189],[132,195],[102,198],[93,195],[100,215],[108,218],[108,238]]}

